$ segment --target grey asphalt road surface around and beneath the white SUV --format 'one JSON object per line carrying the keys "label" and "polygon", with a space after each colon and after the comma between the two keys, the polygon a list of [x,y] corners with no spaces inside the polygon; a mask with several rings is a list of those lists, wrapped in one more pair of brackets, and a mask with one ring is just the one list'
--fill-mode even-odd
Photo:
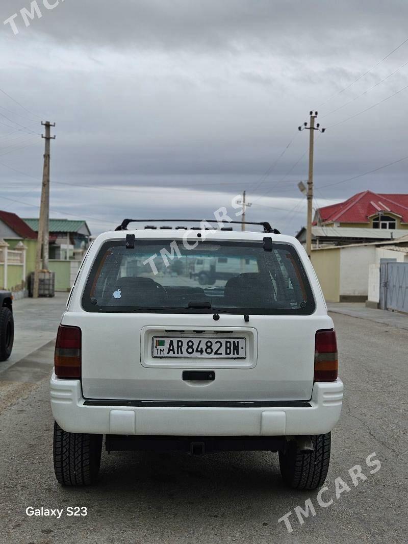
{"label": "grey asphalt road surface around and beneath the white SUV", "polygon": [[[332,317],[345,402],[332,433],[329,490],[323,495],[325,501],[333,497],[330,506],[318,505],[317,491],[286,489],[271,453],[103,453],[100,484],[60,487],[52,467],[50,343],[0,372],[0,542],[408,542],[407,333]],[[7,390],[8,382],[19,380],[24,387]],[[370,474],[366,458],[373,452],[381,468]],[[356,464],[367,475],[357,487],[348,474]],[[349,491],[336,499],[338,477]],[[316,515],[300,525],[294,508],[305,508],[308,498]],[[64,514],[28,517],[30,506]],[[66,516],[68,506],[85,506],[88,515]],[[277,521],[288,511],[291,533]]]}

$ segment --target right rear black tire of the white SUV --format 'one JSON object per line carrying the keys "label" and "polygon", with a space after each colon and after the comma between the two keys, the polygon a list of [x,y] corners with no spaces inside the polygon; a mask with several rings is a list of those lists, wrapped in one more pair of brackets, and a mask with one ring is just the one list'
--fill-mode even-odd
{"label": "right rear black tire of the white SUV", "polygon": [[329,470],[331,433],[311,436],[313,452],[301,452],[295,441],[286,443],[279,452],[283,481],[294,489],[317,489],[323,485]]}

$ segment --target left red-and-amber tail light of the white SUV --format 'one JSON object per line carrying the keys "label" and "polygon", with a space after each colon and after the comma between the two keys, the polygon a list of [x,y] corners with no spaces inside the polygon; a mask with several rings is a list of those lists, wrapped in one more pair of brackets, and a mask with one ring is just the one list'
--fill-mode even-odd
{"label": "left red-and-amber tail light of the white SUV", "polygon": [[54,372],[57,378],[81,378],[81,329],[60,325],[55,343]]}

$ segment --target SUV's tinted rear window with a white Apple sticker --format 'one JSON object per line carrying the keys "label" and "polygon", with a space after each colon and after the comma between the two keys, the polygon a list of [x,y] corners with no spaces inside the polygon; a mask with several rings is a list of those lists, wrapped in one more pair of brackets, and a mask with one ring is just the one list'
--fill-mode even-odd
{"label": "SUV's tinted rear window with a white Apple sticker", "polygon": [[88,312],[257,313],[308,315],[310,283],[289,244],[201,241],[106,242],[82,305]]}

